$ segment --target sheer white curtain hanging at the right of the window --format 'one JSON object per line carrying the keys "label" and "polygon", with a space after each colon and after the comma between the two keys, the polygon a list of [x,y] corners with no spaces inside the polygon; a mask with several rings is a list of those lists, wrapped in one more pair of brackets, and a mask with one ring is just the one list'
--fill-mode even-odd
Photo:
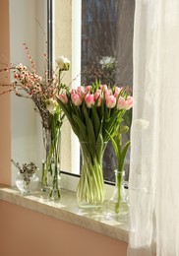
{"label": "sheer white curtain hanging at the right of the window", "polygon": [[128,256],[179,255],[179,0],[136,0]]}

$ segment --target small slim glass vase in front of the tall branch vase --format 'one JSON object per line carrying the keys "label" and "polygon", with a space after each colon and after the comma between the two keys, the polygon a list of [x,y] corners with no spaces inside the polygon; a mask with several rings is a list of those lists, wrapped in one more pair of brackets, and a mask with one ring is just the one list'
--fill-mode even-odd
{"label": "small slim glass vase in front of the tall branch vase", "polygon": [[61,197],[60,163],[51,163],[52,175],[50,176],[49,200],[59,201]]}

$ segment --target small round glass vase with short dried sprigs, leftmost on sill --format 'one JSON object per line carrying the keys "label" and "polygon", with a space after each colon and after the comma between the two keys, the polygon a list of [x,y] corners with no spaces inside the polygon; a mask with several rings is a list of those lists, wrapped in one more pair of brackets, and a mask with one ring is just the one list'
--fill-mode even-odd
{"label": "small round glass vase with short dried sprigs, leftmost on sill", "polygon": [[15,183],[22,195],[26,196],[37,189],[39,178],[36,173],[22,173],[19,171]]}

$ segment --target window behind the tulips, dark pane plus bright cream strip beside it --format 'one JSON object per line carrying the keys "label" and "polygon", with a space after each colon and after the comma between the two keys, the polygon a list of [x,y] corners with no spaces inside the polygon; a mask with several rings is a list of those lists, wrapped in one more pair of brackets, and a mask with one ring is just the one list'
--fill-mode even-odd
{"label": "window behind the tulips, dark pane plus bright cream strip beside it", "polygon": [[[75,79],[72,87],[76,87],[98,79],[102,84],[129,86],[132,90],[135,0],[73,0],[72,5],[71,1],[60,0],[54,1],[54,5],[55,55],[65,55],[72,61],[65,83]],[[129,126],[131,116],[131,112],[125,116]],[[129,136],[124,140],[129,140]],[[63,128],[61,156],[62,169],[80,172],[78,139],[67,122]],[[115,155],[108,144],[103,161],[106,180],[114,180],[111,160],[115,162]],[[128,176],[129,156],[125,170]]]}

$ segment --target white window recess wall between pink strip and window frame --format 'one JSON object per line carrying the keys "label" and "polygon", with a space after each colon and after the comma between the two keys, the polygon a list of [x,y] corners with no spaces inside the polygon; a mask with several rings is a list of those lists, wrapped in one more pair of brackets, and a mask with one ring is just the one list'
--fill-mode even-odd
{"label": "white window recess wall between pink strip and window frame", "polygon": [[[46,1],[42,0],[10,0],[11,63],[21,62],[30,66],[23,42],[27,42],[37,65],[39,62],[37,60],[43,58],[45,38],[35,18],[44,27],[45,4]],[[33,110],[31,100],[14,94],[11,94],[11,137],[12,159],[19,162],[32,160],[40,166],[43,147],[39,115]],[[12,166],[12,184],[14,184],[16,173],[17,168]]]}

